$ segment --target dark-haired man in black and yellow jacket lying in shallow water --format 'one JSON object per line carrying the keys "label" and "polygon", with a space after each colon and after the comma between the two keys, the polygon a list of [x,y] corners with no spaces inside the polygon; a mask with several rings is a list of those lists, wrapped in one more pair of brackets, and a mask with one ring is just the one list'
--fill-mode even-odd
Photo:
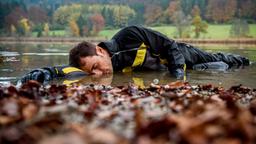
{"label": "dark-haired man in black and yellow jacket lying in shallow water", "polygon": [[185,69],[226,70],[232,66],[249,65],[249,59],[240,55],[207,53],[194,46],[176,42],[165,35],[141,26],[129,26],[113,38],[94,45],[81,42],[69,52],[69,66],[48,67],[25,75],[28,80],[45,82],[56,77],[77,75],[104,75],[113,71],[169,70],[180,79]]}

